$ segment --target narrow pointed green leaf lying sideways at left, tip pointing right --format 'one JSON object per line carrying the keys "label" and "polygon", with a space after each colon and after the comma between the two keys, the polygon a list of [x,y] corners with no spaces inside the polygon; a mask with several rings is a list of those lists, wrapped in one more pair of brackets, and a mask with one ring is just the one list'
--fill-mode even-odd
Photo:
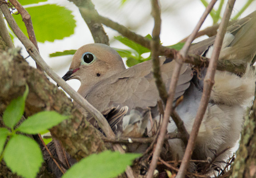
{"label": "narrow pointed green leaf lying sideways at left, tip pointing right", "polygon": [[56,126],[65,119],[68,119],[68,116],[60,115],[56,111],[42,111],[28,117],[27,120],[20,124],[17,131],[27,134],[37,134]]}

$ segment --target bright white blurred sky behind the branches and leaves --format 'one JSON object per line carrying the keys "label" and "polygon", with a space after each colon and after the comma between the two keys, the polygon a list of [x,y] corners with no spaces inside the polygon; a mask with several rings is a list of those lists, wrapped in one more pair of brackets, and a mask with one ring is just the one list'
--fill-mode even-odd
{"label": "bright white blurred sky behind the branches and leaves", "polygon": [[[240,10],[245,1],[247,0],[236,0],[233,10],[234,14]],[[87,25],[80,16],[78,8],[76,8],[73,3],[70,3],[68,0],[48,0],[48,2],[51,4],[57,3],[72,10],[72,14],[75,16],[76,20],[74,35],[66,37],[64,40],[55,40],[53,43],[39,43],[40,54],[44,60],[62,77],[66,71],[68,71],[72,56],[49,58],[48,55],[56,51],[77,49],[84,44],[93,43],[93,39]],[[100,15],[109,17],[142,36],[152,33],[154,22],[150,15],[150,0],[127,0],[123,6],[120,5],[121,0],[92,0],[92,2],[95,4]],[[160,0],[160,4],[162,8],[160,39],[163,45],[166,46],[176,44],[184,37],[188,36],[204,12],[204,6],[200,0]],[[256,1],[251,4],[241,17],[255,10]],[[201,29],[211,25],[211,17],[208,17]],[[111,42],[113,41],[113,36],[119,35],[110,28],[104,28]],[[15,40],[15,45],[22,46],[18,40]],[[116,41],[112,42],[110,46],[125,48],[123,44]],[[24,57],[27,56],[25,50],[23,50],[23,54]],[[32,66],[35,66],[32,59],[28,59],[28,61]],[[76,90],[80,86],[80,83],[76,80],[70,80],[68,83]]]}

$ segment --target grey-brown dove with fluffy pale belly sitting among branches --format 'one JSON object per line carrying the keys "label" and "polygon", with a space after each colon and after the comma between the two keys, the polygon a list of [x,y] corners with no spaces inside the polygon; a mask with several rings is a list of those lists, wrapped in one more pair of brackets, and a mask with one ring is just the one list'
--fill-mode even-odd
{"label": "grey-brown dove with fluffy pale belly sitting among branches", "polygon": [[[192,45],[188,54],[209,58],[214,40],[215,36]],[[192,158],[212,159],[236,144],[243,125],[245,106],[249,106],[254,96],[256,74],[253,67],[248,65],[254,59],[256,59],[256,11],[232,24],[224,36],[219,60],[242,64],[246,66],[246,71],[241,75],[216,71],[215,83],[196,138]],[[160,71],[167,90],[173,70],[174,60],[160,57]],[[192,130],[200,104],[205,74],[206,68],[202,68],[197,74],[191,65],[185,64],[181,68],[174,100],[183,96],[182,101],[176,106],[176,112],[183,120],[188,133]],[[126,106],[129,114],[132,109],[140,107],[150,108],[152,118],[159,117],[157,101],[160,100],[160,96],[152,73],[152,60],[126,69],[122,58],[113,48],[104,44],[86,44],[74,54],[70,68],[63,79],[80,80],[78,93],[101,112],[112,107]],[[82,112],[86,112],[77,103],[75,104]],[[129,117],[132,118],[134,117]],[[148,118],[147,122],[149,122]],[[140,127],[146,128],[147,122],[145,118],[144,121],[141,120],[143,124],[140,124]],[[129,124],[128,121],[123,123]],[[129,127],[123,126],[124,128]],[[176,129],[170,118],[168,133]],[[184,143],[178,138],[169,139],[168,142],[173,158],[181,159],[184,155]],[[229,154],[230,150],[226,150],[218,155],[216,162],[224,161]]]}

